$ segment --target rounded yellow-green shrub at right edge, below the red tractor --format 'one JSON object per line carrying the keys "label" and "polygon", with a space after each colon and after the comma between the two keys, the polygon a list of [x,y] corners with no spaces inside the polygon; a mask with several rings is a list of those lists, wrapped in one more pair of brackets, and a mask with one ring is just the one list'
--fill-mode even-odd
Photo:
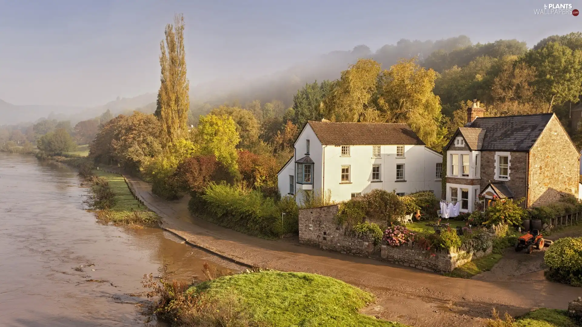
{"label": "rounded yellow-green shrub at right edge, below the red tractor", "polygon": [[549,279],[582,286],[582,237],[556,240],[544,254],[544,262],[550,267]]}

